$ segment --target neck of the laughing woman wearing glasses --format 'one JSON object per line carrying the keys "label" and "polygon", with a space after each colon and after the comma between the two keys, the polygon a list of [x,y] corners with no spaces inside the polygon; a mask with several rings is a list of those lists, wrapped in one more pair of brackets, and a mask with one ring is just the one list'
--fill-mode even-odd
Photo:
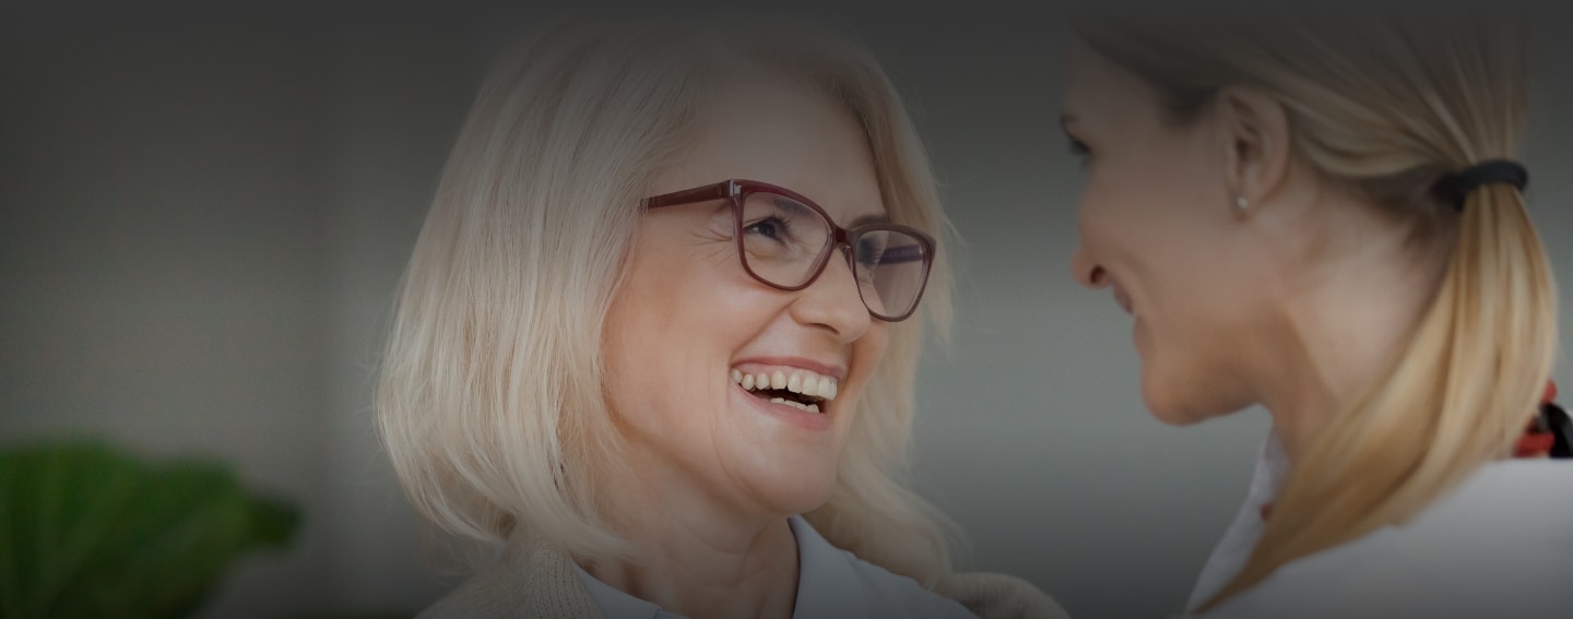
{"label": "neck of the laughing woman wearing glasses", "polygon": [[609,493],[606,509],[634,555],[582,559],[585,572],[687,617],[791,616],[798,542],[786,515],[741,514],[692,482],[650,479],[648,468],[640,478]]}

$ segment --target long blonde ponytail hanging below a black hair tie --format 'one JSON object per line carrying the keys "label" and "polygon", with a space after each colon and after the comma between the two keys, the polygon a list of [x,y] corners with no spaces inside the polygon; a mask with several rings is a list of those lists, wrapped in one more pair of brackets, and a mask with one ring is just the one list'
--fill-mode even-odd
{"label": "long blonde ponytail hanging below a black hair tie", "polygon": [[1202,610],[1290,561],[1408,520],[1524,432],[1551,374],[1556,283],[1513,187],[1472,192],[1461,217],[1408,347],[1312,441],[1257,550]]}

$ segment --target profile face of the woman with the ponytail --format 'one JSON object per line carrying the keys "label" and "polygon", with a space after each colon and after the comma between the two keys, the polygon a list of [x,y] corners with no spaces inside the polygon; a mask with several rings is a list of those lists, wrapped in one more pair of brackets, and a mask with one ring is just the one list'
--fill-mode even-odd
{"label": "profile face of the woman with the ponytail", "polygon": [[1068,69],[1063,126],[1087,168],[1076,278],[1112,288],[1134,317],[1142,396],[1158,418],[1184,424],[1252,404],[1240,350],[1263,272],[1240,234],[1227,140],[1205,113],[1166,123],[1139,77],[1085,46]]}

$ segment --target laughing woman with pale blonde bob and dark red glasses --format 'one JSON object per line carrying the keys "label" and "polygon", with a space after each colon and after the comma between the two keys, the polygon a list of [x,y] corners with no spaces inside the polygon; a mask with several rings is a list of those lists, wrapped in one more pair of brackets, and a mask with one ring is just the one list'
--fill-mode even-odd
{"label": "laughing woman with pale blonde bob and dark red glasses", "polygon": [[969,616],[933,586],[1057,613],[953,575],[900,481],[945,222],[875,60],[763,22],[557,28],[513,58],[381,383],[411,500],[495,550],[428,616]]}

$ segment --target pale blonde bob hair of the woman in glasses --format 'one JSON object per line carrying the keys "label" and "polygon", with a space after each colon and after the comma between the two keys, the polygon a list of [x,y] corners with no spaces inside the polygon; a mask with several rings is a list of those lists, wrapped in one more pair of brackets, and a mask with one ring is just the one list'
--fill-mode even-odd
{"label": "pale blonde bob hair of the woman in glasses", "polygon": [[[620,467],[601,346],[639,200],[741,79],[804,88],[865,130],[886,211],[941,253],[915,319],[890,325],[829,503],[837,547],[933,583],[942,518],[904,482],[926,325],[950,319],[949,236],[901,99],[862,47],[763,22],[599,22],[532,38],[486,79],[415,244],[378,386],[378,421],[414,506],[495,547],[529,531],[576,556],[628,550],[598,514]],[[719,179],[717,179],[719,181]]]}

